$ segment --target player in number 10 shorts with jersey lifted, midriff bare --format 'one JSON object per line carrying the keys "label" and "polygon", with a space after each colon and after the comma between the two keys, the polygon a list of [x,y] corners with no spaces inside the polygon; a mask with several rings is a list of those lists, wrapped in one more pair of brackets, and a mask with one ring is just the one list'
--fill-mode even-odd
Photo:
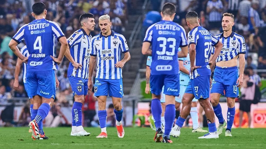
{"label": "player in number 10 shorts with jersey lifted, midriff bare", "polygon": [[[222,19],[223,33],[215,36],[223,43],[223,48],[216,60],[211,88],[211,104],[219,120],[217,133],[219,135],[222,134],[223,128],[226,126],[222,115],[222,108],[219,104],[221,95],[224,95],[226,96],[228,106],[225,136],[231,137],[231,128],[235,118],[235,97],[239,96],[238,87],[243,83],[246,53],[245,39],[243,36],[232,31],[234,24],[234,15],[224,13]],[[240,69],[239,77],[237,69],[238,59]]]}

